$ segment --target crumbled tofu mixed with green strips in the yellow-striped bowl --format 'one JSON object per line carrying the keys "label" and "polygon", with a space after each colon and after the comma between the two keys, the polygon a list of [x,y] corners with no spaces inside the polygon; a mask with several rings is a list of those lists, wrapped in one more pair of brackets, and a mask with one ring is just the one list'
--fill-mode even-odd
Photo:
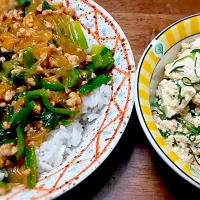
{"label": "crumbled tofu mixed with green strips in the yellow-striped bowl", "polygon": [[177,59],[165,66],[151,108],[172,150],[200,172],[200,38],[182,43]]}

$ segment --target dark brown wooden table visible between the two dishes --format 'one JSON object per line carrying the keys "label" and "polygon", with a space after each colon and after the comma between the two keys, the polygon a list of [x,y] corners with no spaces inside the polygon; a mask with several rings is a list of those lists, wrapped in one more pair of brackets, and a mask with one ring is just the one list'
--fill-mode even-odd
{"label": "dark brown wooden table visible between the two dishes", "polygon": [[[136,64],[163,28],[199,12],[200,1],[98,0],[126,33]],[[150,146],[133,110],[126,131],[106,161],[61,199],[199,199],[200,192],[172,171]]]}

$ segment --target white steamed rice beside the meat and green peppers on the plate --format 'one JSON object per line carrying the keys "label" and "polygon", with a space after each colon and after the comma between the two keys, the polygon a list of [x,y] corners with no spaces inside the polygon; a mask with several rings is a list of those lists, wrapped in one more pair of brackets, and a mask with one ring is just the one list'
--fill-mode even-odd
{"label": "white steamed rice beside the meat and green peppers on the plate", "polygon": [[[38,172],[45,173],[61,165],[64,159],[77,148],[83,139],[84,125],[100,116],[100,111],[109,103],[111,87],[102,85],[89,96],[83,97],[82,115],[69,126],[60,126],[50,133],[47,141],[36,150]],[[1,179],[1,172],[0,172]]]}

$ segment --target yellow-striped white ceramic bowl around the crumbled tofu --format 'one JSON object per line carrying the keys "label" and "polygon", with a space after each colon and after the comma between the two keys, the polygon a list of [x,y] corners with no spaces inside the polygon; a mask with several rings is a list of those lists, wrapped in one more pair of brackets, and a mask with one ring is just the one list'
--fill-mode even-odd
{"label": "yellow-striped white ceramic bowl around the crumbled tofu", "polygon": [[175,22],[151,41],[138,65],[135,105],[143,130],[157,153],[180,176],[200,188],[200,174],[172,151],[156,127],[150,108],[150,100],[155,98],[163,78],[164,66],[176,58],[182,42],[191,42],[197,37],[200,37],[199,14]]}

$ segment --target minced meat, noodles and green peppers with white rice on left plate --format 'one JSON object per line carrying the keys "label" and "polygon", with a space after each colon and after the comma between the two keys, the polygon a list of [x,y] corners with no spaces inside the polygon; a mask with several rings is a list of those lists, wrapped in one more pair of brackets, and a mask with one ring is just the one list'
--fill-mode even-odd
{"label": "minced meat, noodles and green peppers with white rice on left plate", "polygon": [[113,51],[88,44],[74,9],[0,2],[0,193],[62,164],[111,98]]}

